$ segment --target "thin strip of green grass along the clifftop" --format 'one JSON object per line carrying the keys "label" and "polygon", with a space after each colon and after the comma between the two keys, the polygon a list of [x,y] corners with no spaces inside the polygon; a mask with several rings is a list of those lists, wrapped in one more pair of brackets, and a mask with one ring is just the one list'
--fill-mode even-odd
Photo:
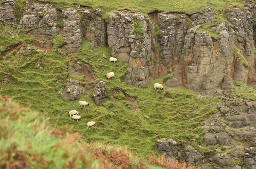
{"label": "thin strip of green grass along the clifftop", "polygon": [[84,5],[93,9],[101,8],[103,18],[107,19],[109,13],[116,10],[129,9],[140,11],[147,15],[150,12],[182,12],[193,14],[203,12],[201,7],[212,6],[217,11],[223,11],[226,7],[236,6],[242,8],[244,0],[38,0],[50,2],[57,8],[70,8],[74,4]]}

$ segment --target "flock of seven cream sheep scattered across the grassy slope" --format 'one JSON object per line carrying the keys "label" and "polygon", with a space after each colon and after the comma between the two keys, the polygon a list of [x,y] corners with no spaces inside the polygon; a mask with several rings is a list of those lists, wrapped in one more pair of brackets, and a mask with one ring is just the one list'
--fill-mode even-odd
{"label": "flock of seven cream sheep scattered across the grassy slope", "polygon": [[[115,63],[117,61],[117,59],[114,58],[114,57],[110,57],[109,61],[110,62],[114,61],[114,63]],[[114,74],[114,72],[109,72],[109,73],[107,73],[106,76],[107,76],[107,79],[110,79],[111,77],[114,77],[115,74]],[[162,84],[158,84],[158,83],[154,84],[154,88],[155,88],[155,90],[156,89],[159,89],[159,90],[163,90],[164,89],[163,85]],[[82,106],[86,107],[87,105],[89,105],[88,102],[86,102],[86,101],[79,101],[79,107],[82,107]],[[71,110],[71,111],[69,111],[68,114],[70,115],[70,117],[72,116],[73,121],[76,120],[77,122],[82,117],[82,116],[79,115],[79,112],[76,111],[76,110]],[[88,122],[87,123],[87,129],[90,129],[90,127],[92,127],[94,124],[95,124],[95,122]]]}

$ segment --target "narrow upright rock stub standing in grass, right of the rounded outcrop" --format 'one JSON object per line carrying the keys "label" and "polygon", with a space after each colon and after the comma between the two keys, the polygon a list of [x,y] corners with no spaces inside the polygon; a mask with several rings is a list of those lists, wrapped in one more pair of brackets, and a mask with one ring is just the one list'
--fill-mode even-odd
{"label": "narrow upright rock stub standing in grass, right of the rounded outcrop", "polygon": [[94,93],[92,94],[92,100],[94,100],[95,104],[99,106],[106,98],[106,83],[96,79],[95,82],[95,87],[94,87]]}

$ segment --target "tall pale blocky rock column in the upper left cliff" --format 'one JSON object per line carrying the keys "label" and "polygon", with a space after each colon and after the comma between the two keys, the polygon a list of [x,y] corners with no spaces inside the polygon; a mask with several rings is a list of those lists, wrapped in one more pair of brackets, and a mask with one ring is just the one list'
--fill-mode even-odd
{"label": "tall pale blocky rock column in the upper left cliff", "polygon": [[64,24],[62,36],[66,40],[64,47],[70,53],[79,52],[82,42],[80,15],[77,10],[67,8],[62,11],[62,17]]}

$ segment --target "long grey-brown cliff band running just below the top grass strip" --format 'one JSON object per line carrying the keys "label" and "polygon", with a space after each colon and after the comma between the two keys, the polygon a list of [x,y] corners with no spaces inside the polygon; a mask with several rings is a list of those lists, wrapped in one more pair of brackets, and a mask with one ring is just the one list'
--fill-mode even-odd
{"label": "long grey-brown cliff band running just below the top grass strip", "polygon": [[[0,22],[14,23],[15,0],[2,1]],[[223,82],[231,89],[233,79],[250,84],[256,81],[253,18],[254,3],[240,10],[226,8],[223,18],[211,8],[192,15],[154,12],[149,17],[140,13],[117,11],[109,21],[101,10],[76,5],[76,9],[56,9],[49,4],[26,2],[19,21],[23,29],[45,38],[60,34],[70,53],[80,50],[82,39],[91,46],[109,46],[118,61],[129,65],[124,78],[130,85],[145,87],[150,79],[173,71],[169,87],[210,93]],[[61,15],[58,15],[61,13]]]}

